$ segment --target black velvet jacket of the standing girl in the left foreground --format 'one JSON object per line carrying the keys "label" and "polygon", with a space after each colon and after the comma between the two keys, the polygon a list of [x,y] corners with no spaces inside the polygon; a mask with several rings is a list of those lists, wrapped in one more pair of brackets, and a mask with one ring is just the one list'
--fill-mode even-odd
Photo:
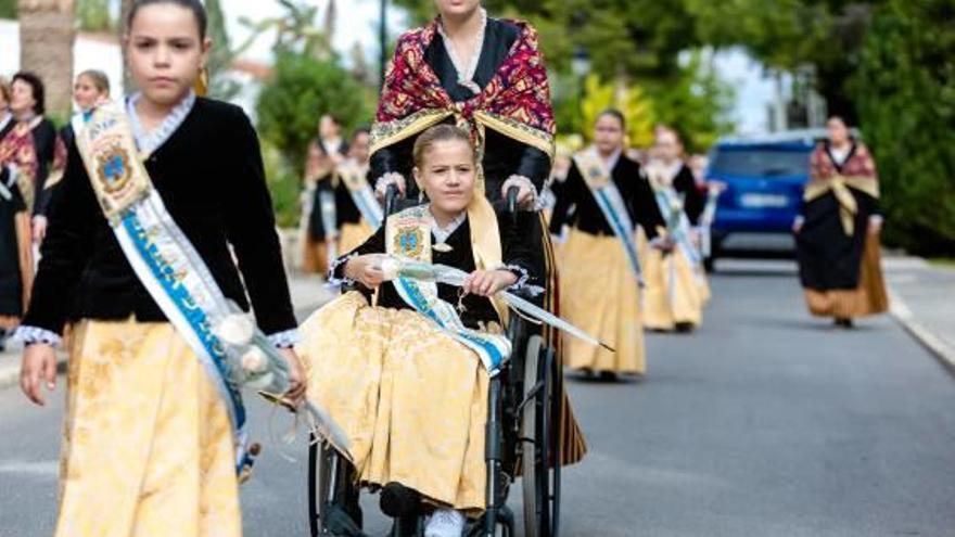
{"label": "black velvet jacket of the standing girl in the left foreground", "polygon": [[[242,110],[196,99],[145,167],[224,294],[246,310],[251,297],[267,334],[294,329],[258,139]],[[58,191],[23,323],[60,333],[67,319],[164,321],[106,223],[75,143]]]}

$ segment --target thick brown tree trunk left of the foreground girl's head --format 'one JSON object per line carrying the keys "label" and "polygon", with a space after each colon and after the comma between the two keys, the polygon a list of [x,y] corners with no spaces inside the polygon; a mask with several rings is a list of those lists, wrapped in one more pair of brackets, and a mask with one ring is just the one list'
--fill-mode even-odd
{"label": "thick brown tree trunk left of the foreground girl's head", "polygon": [[20,65],[47,89],[47,110],[69,114],[73,88],[73,0],[20,0]]}

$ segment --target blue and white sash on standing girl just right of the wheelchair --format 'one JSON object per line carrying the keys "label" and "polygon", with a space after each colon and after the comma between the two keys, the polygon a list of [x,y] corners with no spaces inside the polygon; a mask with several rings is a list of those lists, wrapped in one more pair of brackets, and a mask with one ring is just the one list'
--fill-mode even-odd
{"label": "blue and white sash on standing girl just right of the wheelchair", "polygon": [[574,164],[584,177],[584,182],[587,183],[590,193],[594,194],[594,200],[597,201],[597,206],[607,218],[607,223],[610,225],[613,234],[620,239],[634,276],[642,284],[640,258],[637,256],[637,243],[634,239],[636,228],[634,228],[626,204],[620,195],[620,190],[616,189],[616,183],[610,176],[610,170],[607,169],[600,155],[593,148],[574,155]]}

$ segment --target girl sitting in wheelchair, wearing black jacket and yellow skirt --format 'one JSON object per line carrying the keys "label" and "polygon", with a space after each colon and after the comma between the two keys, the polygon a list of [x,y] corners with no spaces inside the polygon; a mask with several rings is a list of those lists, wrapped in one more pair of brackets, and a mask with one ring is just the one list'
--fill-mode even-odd
{"label": "girl sitting in wheelchair, wearing black jacket and yellow skirt", "polygon": [[[301,353],[309,397],[349,439],[357,482],[417,491],[433,511],[425,536],[457,537],[485,507],[489,372],[510,348],[495,294],[539,284],[544,259],[533,214],[495,215],[466,132],[432,127],[413,161],[426,203],[334,264],[333,279],[356,291],[305,322]],[[461,287],[395,280],[382,254],[469,276]]]}

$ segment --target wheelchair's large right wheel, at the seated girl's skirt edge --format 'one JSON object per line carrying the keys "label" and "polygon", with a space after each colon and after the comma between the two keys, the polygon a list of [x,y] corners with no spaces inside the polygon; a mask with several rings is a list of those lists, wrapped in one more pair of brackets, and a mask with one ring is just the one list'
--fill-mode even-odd
{"label": "wheelchair's large right wheel, at the seated girl's skirt edge", "polygon": [[560,523],[560,370],[535,335],[524,360],[521,471],[525,537],[557,537]]}

